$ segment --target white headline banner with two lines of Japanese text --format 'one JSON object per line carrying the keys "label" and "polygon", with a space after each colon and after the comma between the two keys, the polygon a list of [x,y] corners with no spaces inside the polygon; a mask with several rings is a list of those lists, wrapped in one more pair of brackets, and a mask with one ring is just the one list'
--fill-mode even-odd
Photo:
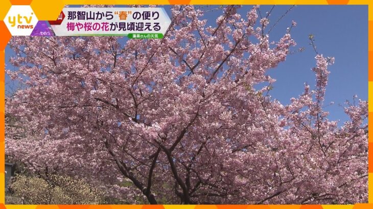
{"label": "white headline banner with two lines of Japanese text", "polygon": [[56,36],[131,38],[161,38],[170,23],[164,8],[64,8],[56,21],[50,21]]}

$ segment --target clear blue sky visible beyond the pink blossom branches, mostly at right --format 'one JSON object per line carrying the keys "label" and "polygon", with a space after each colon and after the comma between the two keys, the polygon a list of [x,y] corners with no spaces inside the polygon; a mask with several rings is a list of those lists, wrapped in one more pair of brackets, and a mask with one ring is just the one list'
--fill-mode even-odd
{"label": "clear blue sky visible beyond the pink blossom branches, mostly at right", "polygon": [[[125,6],[123,6],[125,7]],[[211,6],[216,8],[217,6]],[[272,6],[261,6],[260,11],[265,16]],[[276,5],[270,15],[271,25],[281,17],[291,6]],[[169,12],[169,6],[165,6]],[[243,6],[239,13],[244,17],[251,6]],[[208,23],[215,25],[215,19],[220,12],[208,12],[205,14]],[[356,5],[325,5],[325,6],[296,6],[290,11],[271,31],[272,41],[281,38],[291,21],[297,22],[297,27],[291,30],[293,39],[297,42],[296,50],[305,47],[301,53],[288,56],[287,60],[268,74],[277,81],[271,91],[273,98],[284,104],[288,104],[291,97],[297,97],[303,91],[304,83],[310,86],[315,83],[315,75],[311,70],[315,66],[315,51],[309,45],[308,36],[315,36],[315,43],[319,54],[335,57],[335,64],[329,70],[329,84],[325,96],[325,105],[334,101],[333,106],[325,110],[330,112],[329,118],[347,120],[343,105],[346,99],[352,100],[354,94],[359,98],[368,98],[368,7]],[[6,64],[12,51],[6,49]],[[6,90],[12,85],[6,76]]]}

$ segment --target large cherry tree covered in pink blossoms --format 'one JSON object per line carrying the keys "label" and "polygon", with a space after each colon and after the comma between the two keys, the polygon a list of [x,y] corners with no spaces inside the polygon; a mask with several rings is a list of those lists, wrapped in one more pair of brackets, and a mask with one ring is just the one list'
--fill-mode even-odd
{"label": "large cherry tree covered in pink blossoms", "polygon": [[239,8],[220,8],[208,26],[201,9],[173,6],[163,39],[125,44],[13,37],[17,70],[7,73],[27,88],[6,100],[24,132],[7,129],[6,154],[130,203],[366,202],[367,102],[346,102],[342,126],[328,119],[334,58],[321,54],[314,87],[289,105],[272,98],[266,72],[295,41],[290,30],[270,41],[268,15]]}

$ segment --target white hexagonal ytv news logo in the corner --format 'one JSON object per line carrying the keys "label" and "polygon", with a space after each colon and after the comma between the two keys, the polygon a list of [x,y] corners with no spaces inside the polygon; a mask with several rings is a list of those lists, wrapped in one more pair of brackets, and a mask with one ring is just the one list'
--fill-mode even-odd
{"label": "white hexagonal ytv news logo in the corner", "polygon": [[28,5],[13,5],[4,19],[12,36],[30,36],[37,22]]}

